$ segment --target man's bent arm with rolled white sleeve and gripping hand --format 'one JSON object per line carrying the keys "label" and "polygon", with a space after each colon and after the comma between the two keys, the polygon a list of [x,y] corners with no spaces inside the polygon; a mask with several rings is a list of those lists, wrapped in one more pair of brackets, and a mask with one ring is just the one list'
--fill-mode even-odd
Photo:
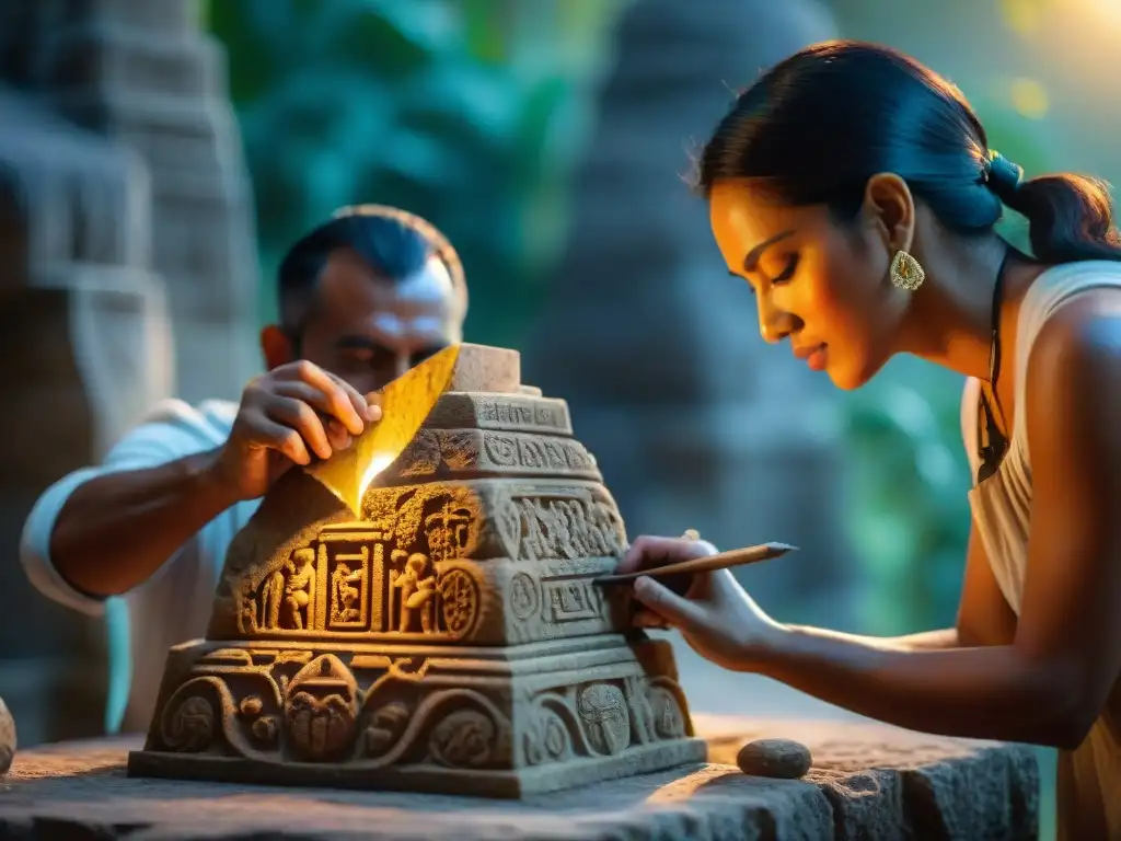
{"label": "man's bent arm with rolled white sleeve and gripping hand", "polygon": [[[229,438],[185,404],[143,424],[102,469],[49,489],[25,527],[24,564],[48,595],[89,610],[149,579],[234,502],[256,499],[293,464],[350,445],[380,408],[297,361],[252,380]],[[61,581],[59,581],[61,580]]]}

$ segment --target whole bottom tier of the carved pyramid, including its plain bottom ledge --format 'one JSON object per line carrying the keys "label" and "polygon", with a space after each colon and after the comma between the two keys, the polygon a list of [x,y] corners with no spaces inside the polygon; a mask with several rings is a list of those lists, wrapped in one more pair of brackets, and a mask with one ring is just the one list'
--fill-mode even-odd
{"label": "whole bottom tier of the carved pyramid, including its plain bottom ledge", "polygon": [[668,644],[172,649],[129,776],[522,797],[703,761]]}

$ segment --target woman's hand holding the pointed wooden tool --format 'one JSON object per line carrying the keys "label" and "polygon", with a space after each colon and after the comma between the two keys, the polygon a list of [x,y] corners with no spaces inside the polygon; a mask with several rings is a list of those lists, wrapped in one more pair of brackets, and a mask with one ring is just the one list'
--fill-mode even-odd
{"label": "woman's hand holding the pointed wooden tool", "polygon": [[[618,571],[637,572],[715,554],[716,548],[705,540],[643,535],[631,544]],[[730,570],[693,575],[684,595],[643,576],[634,581],[634,598],[642,604],[634,625],[677,628],[702,657],[729,669],[750,671],[779,631]]]}

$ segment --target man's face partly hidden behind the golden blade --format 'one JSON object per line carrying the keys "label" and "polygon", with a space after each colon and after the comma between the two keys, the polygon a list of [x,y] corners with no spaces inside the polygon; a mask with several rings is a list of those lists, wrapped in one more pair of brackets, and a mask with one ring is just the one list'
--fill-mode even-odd
{"label": "man's face partly hidden behind the golden blade", "polygon": [[416,274],[390,279],[354,251],[339,249],[319,275],[315,302],[300,355],[360,394],[377,391],[463,339],[465,303],[436,256]]}

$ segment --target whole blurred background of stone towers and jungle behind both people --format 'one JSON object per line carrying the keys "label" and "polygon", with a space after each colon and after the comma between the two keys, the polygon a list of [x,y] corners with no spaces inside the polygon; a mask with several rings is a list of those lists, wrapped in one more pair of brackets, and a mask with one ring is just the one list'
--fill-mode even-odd
{"label": "whole blurred background of stone towers and jungle behind both people", "polygon": [[[569,401],[631,534],[798,543],[742,573],[780,619],[951,623],[960,378],[899,360],[840,394],[766,346],[680,177],[732,90],[836,36],[948,75],[1029,175],[1121,177],[1115,0],[0,2],[0,695],[21,743],[96,732],[105,690],[104,627],[16,562],[30,505],[159,397],[235,399],[280,255],[355,202],[451,238],[469,340]],[[840,714],[679,656],[697,710]]]}

